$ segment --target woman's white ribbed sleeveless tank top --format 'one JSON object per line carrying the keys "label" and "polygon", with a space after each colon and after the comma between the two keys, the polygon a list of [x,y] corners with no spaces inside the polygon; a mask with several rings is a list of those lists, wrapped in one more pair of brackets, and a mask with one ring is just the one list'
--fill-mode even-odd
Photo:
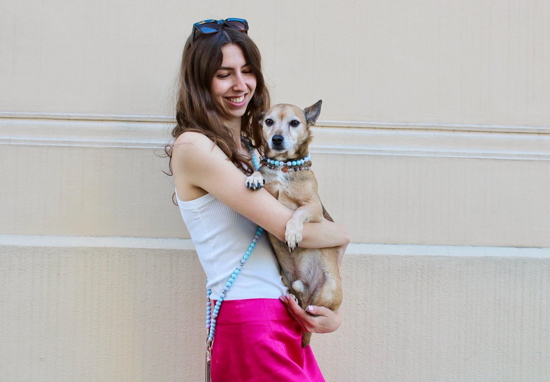
{"label": "woman's white ribbed sleeveless tank top", "polygon": [[[258,226],[211,194],[181,201],[176,193],[176,199],[206,272],[206,287],[217,298],[240,264]],[[288,288],[283,284],[279,263],[267,233],[263,232],[226,299],[279,298],[286,293]]]}

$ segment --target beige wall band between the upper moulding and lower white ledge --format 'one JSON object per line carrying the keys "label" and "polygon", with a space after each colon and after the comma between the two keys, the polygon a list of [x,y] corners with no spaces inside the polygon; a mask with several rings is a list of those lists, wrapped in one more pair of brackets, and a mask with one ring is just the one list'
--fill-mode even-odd
{"label": "beige wall band between the upper moulding and lower white ledge", "polygon": [[[342,138],[347,129],[334,130]],[[439,138],[419,152],[411,143],[417,137],[399,133],[388,148],[369,144],[377,137],[367,129],[352,137],[357,146],[327,142],[332,135],[321,131],[312,150],[319,192],[353,242],[550,247],[550,134],[511,142],[531,151],[472,154],[460,147],[434,153],[444,148],[443,132],[427,133]],[[497,148],[499,135],[489,135]],[[0,188],[0,233],[189,238],[171,201],[173,180],[161,171],[167,161],[154,149],[42,143],[0,144],[7,186]],[[529,159],[498,159],[520,154]]]}

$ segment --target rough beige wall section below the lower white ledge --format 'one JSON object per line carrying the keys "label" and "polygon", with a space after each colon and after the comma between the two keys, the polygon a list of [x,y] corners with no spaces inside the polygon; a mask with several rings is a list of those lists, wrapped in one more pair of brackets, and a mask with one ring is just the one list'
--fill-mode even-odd
{"label": "rough beige wall section below the lower white ledge", "polygon": [[[205,279],[194,251],[79,240],[0,247],[1,379],[202,380]],[[326,380],[548,381],[550,251],[425,250],[351,248],[342,326],[312,339]]]}

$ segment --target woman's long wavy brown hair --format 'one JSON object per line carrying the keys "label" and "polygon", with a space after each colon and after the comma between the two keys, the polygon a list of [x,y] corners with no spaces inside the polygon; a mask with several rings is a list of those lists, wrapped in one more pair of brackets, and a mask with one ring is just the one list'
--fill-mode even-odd
{"label": "woman's long wavy brown hair", "polygon": [[[222,28],[215,34],[199,34],[193,43],[191,36],[187,39],[179,74],[175,113],[177,125],[172,129],[172,137],[175,141],[183,132],[202,133],[210,138],[235,166],[250,175],[254,166],[246,156],[239,154],[230,129],[224,124],[210,97],[210,84],[222,66],[222,47],[228,43],[234,43],[243,50],[246,62],[256,75],[256,90],[241,118],[241,136],[247,138],[252,147],[260,148],[261,113],[270,107],[270,94],[261,71],[261,55],[256,44],[245,32],[231,28]],[[169,176],[173,175],[172,147],[173,143],[164,147],[166,156],[170,157],[169,173],[164,173]]]}

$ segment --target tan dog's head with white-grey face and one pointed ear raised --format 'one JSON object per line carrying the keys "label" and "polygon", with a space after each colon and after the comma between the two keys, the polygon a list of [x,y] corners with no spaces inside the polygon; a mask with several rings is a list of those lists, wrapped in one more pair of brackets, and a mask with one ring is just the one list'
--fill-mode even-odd
{"label": "tan dog's head with white-grey face and one pointed ear raised", "polygon": [[264,154],[271,158],[306,155],[311,139],[309,128],[321,113],[321,103],[318,100],[304,110],[279,103],[266,111],[262,118]]}

